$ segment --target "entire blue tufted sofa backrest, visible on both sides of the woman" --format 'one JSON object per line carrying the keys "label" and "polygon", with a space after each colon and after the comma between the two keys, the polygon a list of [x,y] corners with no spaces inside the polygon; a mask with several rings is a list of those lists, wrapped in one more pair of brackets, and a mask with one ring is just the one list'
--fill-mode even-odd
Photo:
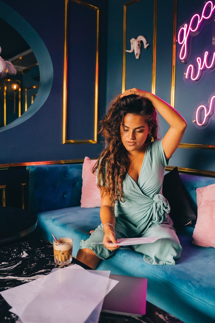
{"label": "entire blue tufted sofa backrest, visible on both sides of the woman", "polygon": [[[38,213],[80,205],[82,165],[27,166],[29,210]],[[180,173],[180,178],[191,207],[197,214],[196,189],[215,183],[215,177]]]}

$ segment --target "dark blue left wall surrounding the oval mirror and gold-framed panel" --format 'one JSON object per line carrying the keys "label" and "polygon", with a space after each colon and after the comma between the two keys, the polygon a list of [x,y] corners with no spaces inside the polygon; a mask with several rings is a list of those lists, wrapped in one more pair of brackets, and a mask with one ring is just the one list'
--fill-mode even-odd
{"label": "dark blue left wall surrounding the oval mirror and gold-framed panel", "polygon": [[[47,100],[35,114],[23,123],[0,132],[0,164],[83,159],[85,156],[96,158],[101,150],[101,144],[62,144],[64,0],[38,0],[36,3],[7,0],[5,3],[18,12],[41,37],[52,60],[54,78]],[[93,0],[90,3],[100,8],[99,117],[101,117],[106,99],[107,1]],[[78,37],[78,26],[76,34]],[[84,96],[84,90],[79,90],[79,95]]]}

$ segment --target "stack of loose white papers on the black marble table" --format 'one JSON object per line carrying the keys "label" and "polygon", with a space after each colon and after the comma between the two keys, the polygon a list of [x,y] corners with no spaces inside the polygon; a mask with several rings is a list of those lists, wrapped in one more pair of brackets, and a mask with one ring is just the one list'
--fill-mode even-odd
{"label": "stack of loose white papers on the black marble table", "polygon": [[103,298],[118,283],[109,275],[72,265],[0,294],[23,323],[83,323],[92,312],[98,322]]}

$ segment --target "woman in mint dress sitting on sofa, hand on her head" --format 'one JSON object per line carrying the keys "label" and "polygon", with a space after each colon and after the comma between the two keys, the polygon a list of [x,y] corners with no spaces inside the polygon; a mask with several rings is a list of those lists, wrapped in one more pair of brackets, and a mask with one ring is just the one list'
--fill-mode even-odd
{"label": "woman in mint dress sitting on sofa, hand on her head", "polygon": [[[156,110],[170,125],[158,140]],[[149,264],[174,265],[180,258],[182,248],[161,190],[165,167],[186,126],[175,109],[149,92],[129,89],[113,100],[102,121],[106,145],[94,167],[102,196],[102,223],[81,241],[78,260],[96,268],[119,248],[110,243],[132,237],[161,237],[132,246]]]}

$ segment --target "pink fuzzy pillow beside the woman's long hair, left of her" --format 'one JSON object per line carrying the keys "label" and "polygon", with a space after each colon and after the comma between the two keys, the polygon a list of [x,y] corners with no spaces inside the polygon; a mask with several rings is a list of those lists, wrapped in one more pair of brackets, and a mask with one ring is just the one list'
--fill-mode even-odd
{"label": "pink fuzzy pillow beside the woman's long hair, left of her", "polygon": [[101,193],[96,184],[96,175],[92,173],[95,162],[89,157],[85,157],[83,161],[81,207],[101,206]]}

